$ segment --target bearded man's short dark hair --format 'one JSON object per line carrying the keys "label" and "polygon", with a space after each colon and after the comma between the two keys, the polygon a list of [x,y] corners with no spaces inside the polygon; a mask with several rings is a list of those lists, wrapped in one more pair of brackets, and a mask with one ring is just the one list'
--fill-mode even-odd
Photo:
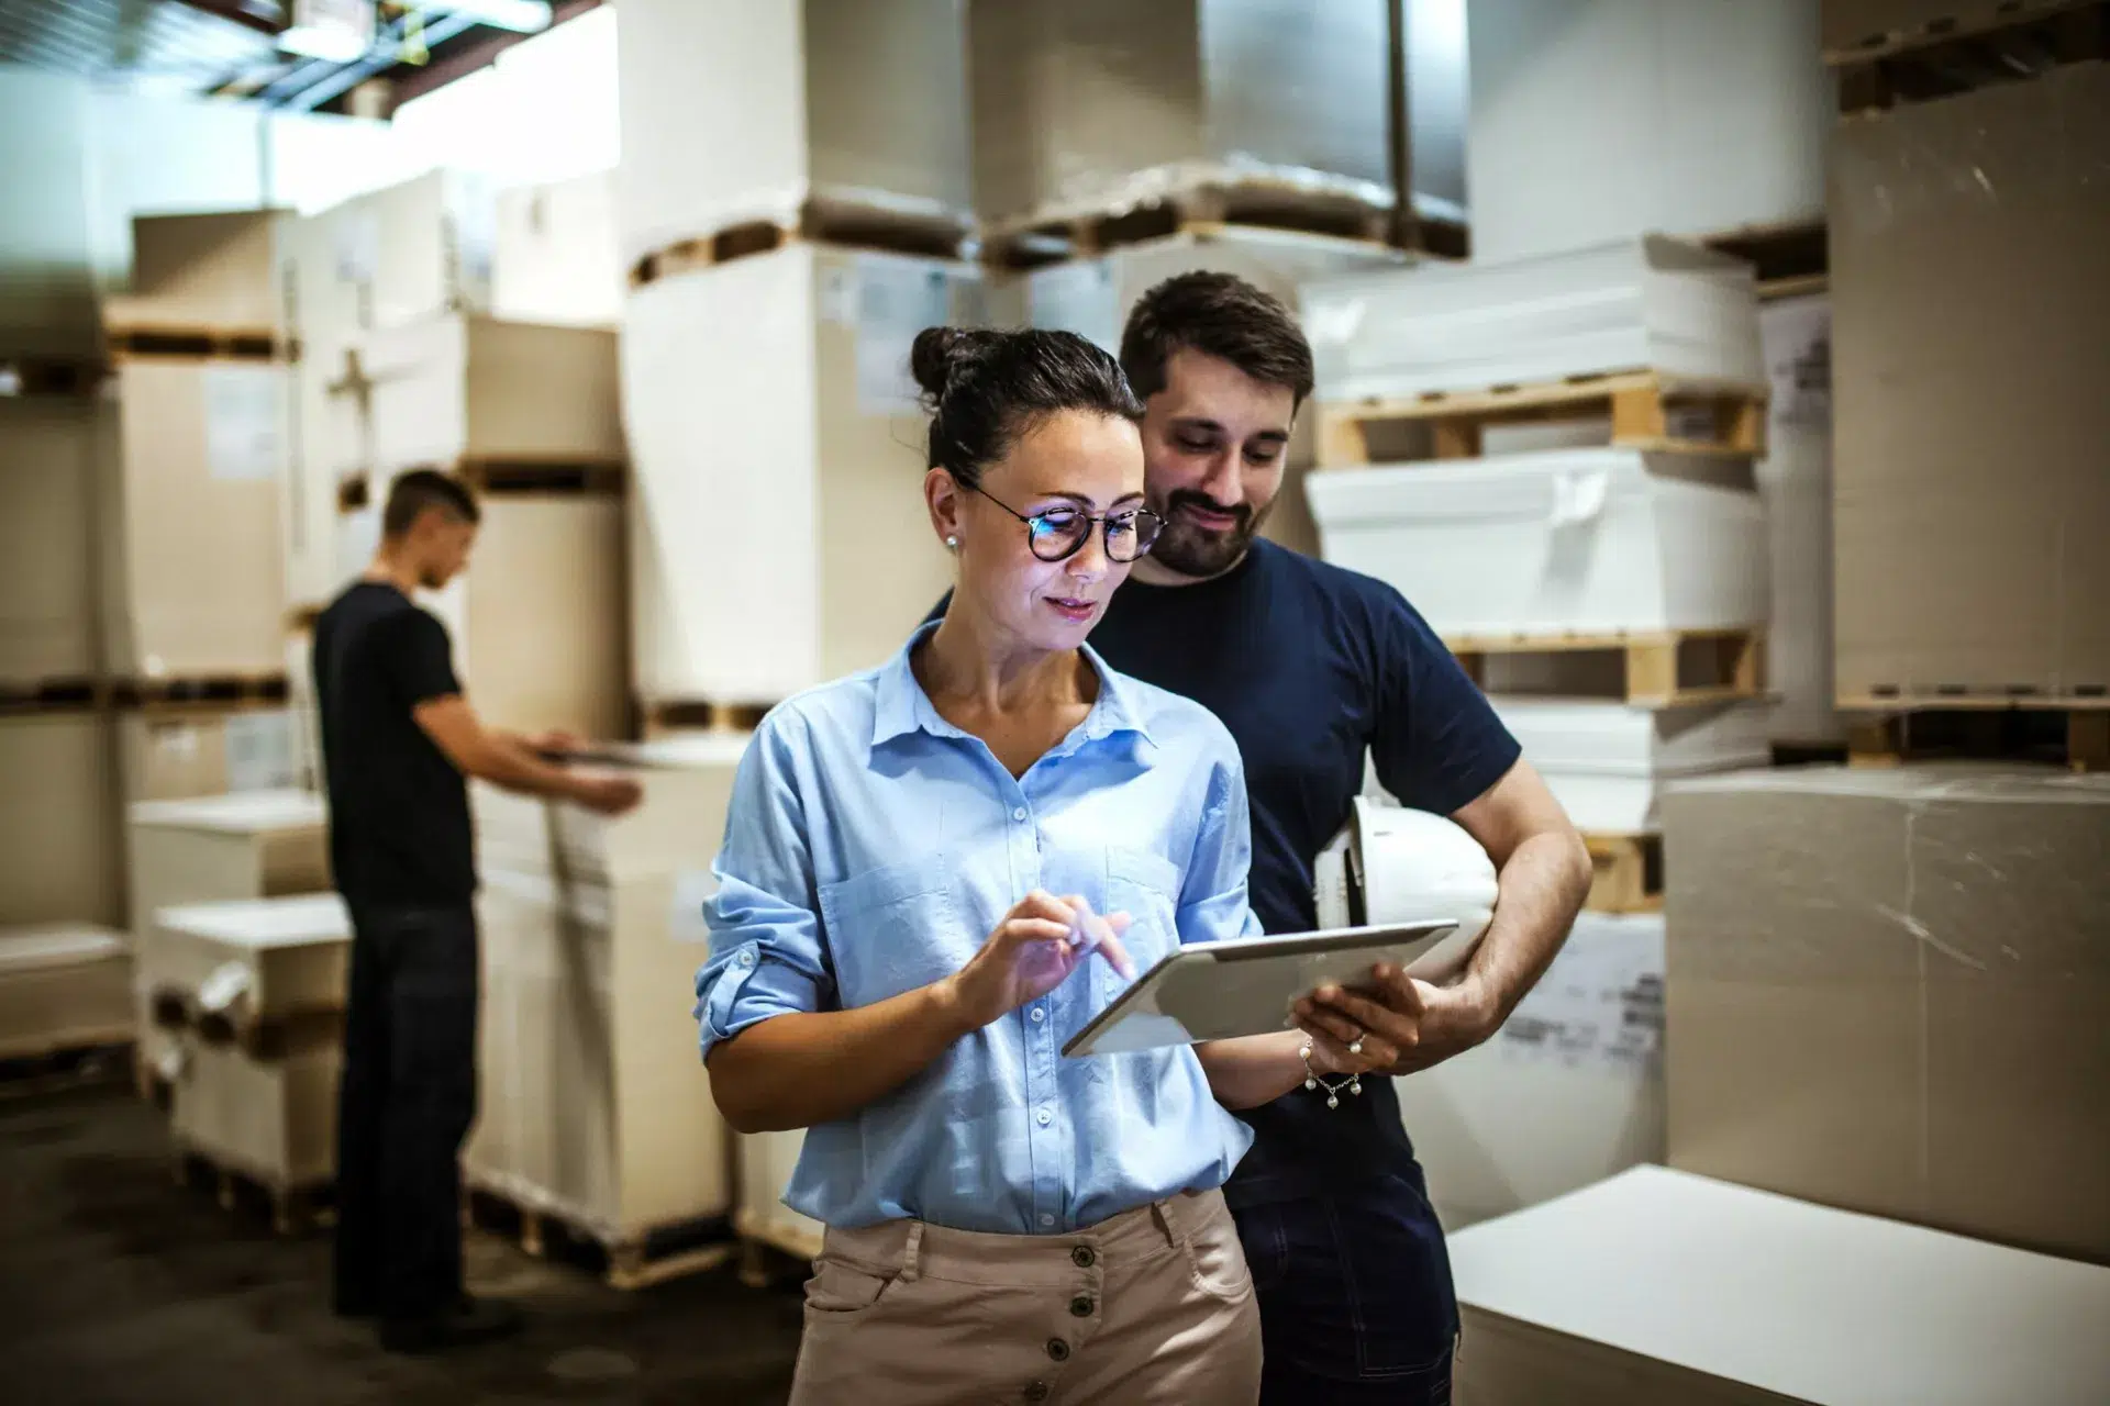
{"label": "bearded man's short dark hair", "polygon": [[1165,390],[1173,352],[1190,350],[1228,360],[1255,382],[1287,386],[1304,405],[1312,392],[1312,348],[1304,329],[1283,308],[1234,274],[1177,274],[1150,289],[1129,312],[1120,333],[1120,369],[1148,401]]}

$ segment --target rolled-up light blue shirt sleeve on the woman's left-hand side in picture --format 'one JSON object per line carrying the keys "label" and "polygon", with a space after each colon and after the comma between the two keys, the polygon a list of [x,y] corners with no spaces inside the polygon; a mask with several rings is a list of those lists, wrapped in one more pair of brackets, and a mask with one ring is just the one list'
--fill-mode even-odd
{"label": "rolled-up light blue shirt sleeve on the woman's left-hand side in picture", "polygon": [[705,900],[711,959],[696,972],[703,1056],[772,1016],[831,1010],[836,976],[821,942],[806,807],[798,790],[804,727],[772,715],[741,757]]}

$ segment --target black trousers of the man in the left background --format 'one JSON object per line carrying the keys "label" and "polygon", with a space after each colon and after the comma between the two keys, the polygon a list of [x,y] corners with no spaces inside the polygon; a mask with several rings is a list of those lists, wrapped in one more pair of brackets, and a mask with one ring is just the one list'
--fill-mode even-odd
{"label": "black trousers of the man in the left background", "polygon": [[335,1305],[411,1320],[462,1296],[477,1117],[477,915],[352,909],[338,1086]]}

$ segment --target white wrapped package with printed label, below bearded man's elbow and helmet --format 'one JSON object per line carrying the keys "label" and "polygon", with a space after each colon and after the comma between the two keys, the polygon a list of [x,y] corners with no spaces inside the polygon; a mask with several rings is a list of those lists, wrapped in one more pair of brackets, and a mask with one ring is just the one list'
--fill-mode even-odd
{"label": "white wrapped package with printed label, below bearded man's elbow and helmet", "polygon": [[1450,1231],[1663,1159],[1663,915],[1580,913],[1488,1043],[1393,1079]]}

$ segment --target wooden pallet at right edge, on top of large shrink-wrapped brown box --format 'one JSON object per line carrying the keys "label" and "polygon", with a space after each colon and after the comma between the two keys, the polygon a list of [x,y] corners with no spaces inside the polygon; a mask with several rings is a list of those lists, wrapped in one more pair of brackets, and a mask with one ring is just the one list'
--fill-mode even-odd
{"label": "wooden pallet at right edge, on top of large shrink-wrapped brown box", "polygon": [[2038,761],[2074,772],[2110,769],[2110,698],[2059,700],[1950,694],[1899,706],[1897,698],[1842,698],[1848,763]]}

